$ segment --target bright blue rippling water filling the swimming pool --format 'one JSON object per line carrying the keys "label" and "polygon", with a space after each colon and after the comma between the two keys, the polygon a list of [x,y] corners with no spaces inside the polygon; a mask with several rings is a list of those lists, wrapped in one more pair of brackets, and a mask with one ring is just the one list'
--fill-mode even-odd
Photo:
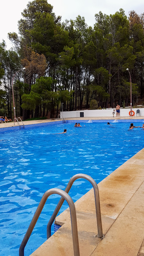
{"label": "bright blue rippling water filling the swimming pool", "polygon": [[[81,122],[83,127],[74,127],[73,121],[1,133],[1,256],[18,256],[20,243],[46,190],[65,189],[77,173],[89,174],[99,183],[144,147],[144,129],[128,130],[130,122],[112,126],[106,122]],[[142,120],[133,123],[142,126]],[[66,134],[52,135],[64,129]],[[88,181],[79,179],[69,194],[75,202],[90,189]],[[47,222],[59,199],[59,195],[48,198],[25,247],[25,256],[45,242]],[[67,207],[64,202],[60,212]]]}

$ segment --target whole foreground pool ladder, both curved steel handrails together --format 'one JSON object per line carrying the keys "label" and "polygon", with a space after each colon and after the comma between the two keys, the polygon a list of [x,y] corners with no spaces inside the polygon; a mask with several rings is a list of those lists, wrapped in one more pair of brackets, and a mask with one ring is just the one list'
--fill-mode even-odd
{"label": "whole foreground pool ladder, both curved steel handrails together", "polygon": [[87,174],[83,174],[83,173],[79,173],[74,175],[70,181],[68,182],[65,191],[61,190],[61,189],[49,189],[47,190],[43,196],[42,199],[36,209],[36,212],[34,214],[34,217],[32,218],[32,221],[28,227],[28,230],[25,233],[25,236],[23,238],[23,241],[20,245],[19,248],[19,256],[24,256],[24,248],[30,238],[30,235],[36,225],[36,222],[42,212],[42,209],[44,207],[44,204],[47,201],[47,198],[52,195],[52,194],[58,194],[61,196],[59,203],[57,204],[54,213],[52,214],[48,225],[47,225],[47,239],[49,237],[51,237],[51,227],[52,224],[56,218],[56,215],[58,214],[62,204],[64,203],[64,201],[66,200],[68,203],[68,206],[70,208],[70,215],[71,215],[71,227],[72,227],[72,239],[73,239],[73,252],[74,252],[74,256],[80,256],[79,253],[79,241],[78,241],[78,229],[77,229],[77,216],[76,216],[76,208],[74,205],[74,202],[72,200],[72,198],[68,195],[68,192],[70,191],[74,181],[76,179],[86,179],[88,180],[91,185],[93,186],[94,189],[94,195],[95,195],[95,207],[96,207],[96,219],[97,219],[97,230],[98,230],[98,237],[99,238],[103,238],[103,231],[102,231],[102,220],[101,220],[101,209],[100,209],[100,196],[99,196],[99,191],[98,191],[98,186],[95,182],[94,179],[92,179],[89,175]]}

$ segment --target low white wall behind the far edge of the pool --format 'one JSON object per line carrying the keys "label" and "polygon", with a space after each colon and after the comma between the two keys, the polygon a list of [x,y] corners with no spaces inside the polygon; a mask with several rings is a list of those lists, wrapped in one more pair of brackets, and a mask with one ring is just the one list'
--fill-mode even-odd
{"label": "low white wall behind the far edge of the pool", "polygon": [[[134,116],[136,116],[136,111],[138,108],[132,108],[134,111]],[[144,116],[144,108],[139,108],[140,110],[140,116]],[[80,112],[84,113],[84,117],[113,117],[113,109],[95,109],[95,110],[79,110],[79,111],[66,111],[66,112],[60,112],[60,114],[63,114],[64,118],[79,118]],[[129,117],[128,114],[130,112],[130,108],[121,108],[120,109],[120,117]],[[133,113],[132,113],[133,114]],[[139,114],[137,115],[139,116]],[[115,115],[116,117],[116,111]]]}

